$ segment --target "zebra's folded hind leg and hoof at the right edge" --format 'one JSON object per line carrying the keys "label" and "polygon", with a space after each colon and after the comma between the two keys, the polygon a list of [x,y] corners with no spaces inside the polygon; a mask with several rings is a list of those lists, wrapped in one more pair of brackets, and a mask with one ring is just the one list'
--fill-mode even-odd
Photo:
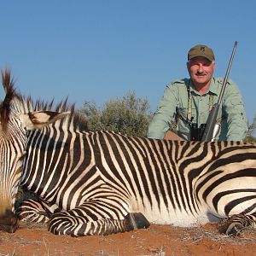
{"label": "zebra's folded hind leg and hoof at the right edge", "polygon": [[249,226],[256,227],[256,218],[253,215],[236,214],[224,219],[218,230],[227,236],[240,236],[242,231]]}

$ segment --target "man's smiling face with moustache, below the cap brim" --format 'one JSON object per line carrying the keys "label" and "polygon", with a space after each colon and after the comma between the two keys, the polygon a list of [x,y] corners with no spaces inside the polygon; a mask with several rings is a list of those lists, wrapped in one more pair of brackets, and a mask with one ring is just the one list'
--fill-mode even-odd
{"label": "man's smiling face with moustache, below the cap brim", "polygon": [[187,63],[187,68],[195,87],[202,87],[210,85],[215,62],[211,62],[205,57],[195,57]]}

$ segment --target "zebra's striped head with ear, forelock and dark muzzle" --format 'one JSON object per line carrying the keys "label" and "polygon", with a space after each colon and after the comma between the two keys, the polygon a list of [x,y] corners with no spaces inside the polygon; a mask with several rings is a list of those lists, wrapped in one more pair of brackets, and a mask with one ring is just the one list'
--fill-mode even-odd
{"label": "zebra's striped head with ear, forelock and dark muzzle", "polygon": [[69,112],[29,111],[27,101],[15,90],[10,71],[1,73],[6,96],[0,105],[0,229],[15,232],[15,200],[26,155],[26,131],[40,129]]}

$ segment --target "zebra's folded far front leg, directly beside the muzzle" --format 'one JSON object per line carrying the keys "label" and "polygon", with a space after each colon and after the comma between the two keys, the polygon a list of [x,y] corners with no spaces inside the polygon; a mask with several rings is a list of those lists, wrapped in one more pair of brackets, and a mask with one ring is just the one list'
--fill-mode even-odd
{"label": "zebra's folded far front leg, directly beside the muzzle", "polygon": [[54,212],[60,212],[60,209],[44,201],[28,199],[20,202],[16,212],[22,221],[44,224],[49,221],[50,216]]}

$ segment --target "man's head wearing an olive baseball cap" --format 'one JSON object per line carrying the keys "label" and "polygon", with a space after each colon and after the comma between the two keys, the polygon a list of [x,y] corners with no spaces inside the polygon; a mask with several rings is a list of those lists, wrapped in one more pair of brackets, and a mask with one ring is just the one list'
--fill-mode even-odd
{"label": "man's head wearing an olive baseball cap", "polygon": [[201,44],[189,49],[187,68],[195,89],[205,92],[211,84],[215,69],[215,57],[212,49]]}

